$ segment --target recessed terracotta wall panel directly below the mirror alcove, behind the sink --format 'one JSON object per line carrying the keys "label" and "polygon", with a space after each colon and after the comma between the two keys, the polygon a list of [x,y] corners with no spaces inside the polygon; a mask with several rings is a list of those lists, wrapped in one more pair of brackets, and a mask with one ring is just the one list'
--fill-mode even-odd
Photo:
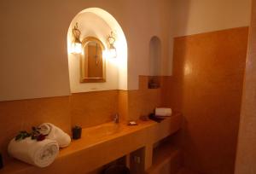
{"label": "recessed terracotta wall panel directly below the mirror alcove, behind the sink", "polygon": [[70,96],[72,125],[90,127],[113,119],[118,113],[119,90],[76,93]]}

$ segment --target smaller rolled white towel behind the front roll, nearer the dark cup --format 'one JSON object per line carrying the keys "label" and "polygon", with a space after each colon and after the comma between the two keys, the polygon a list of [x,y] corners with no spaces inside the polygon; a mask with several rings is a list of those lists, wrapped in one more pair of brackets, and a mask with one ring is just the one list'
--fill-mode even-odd
{"label": "smaller rolled white towel behind the front roll, nearer the dark cup", "polygon": [[48,135],[46,138],[58,142],[60,148],[67,147],[71,142],[70,136],[55,125],[44,123],[38,127],[41,134]]}

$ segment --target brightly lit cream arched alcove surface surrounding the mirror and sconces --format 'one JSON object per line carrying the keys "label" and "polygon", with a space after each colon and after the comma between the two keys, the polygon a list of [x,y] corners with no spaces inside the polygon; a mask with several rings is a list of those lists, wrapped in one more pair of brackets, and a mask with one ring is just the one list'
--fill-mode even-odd
{"label": "brightly lit cream arched alcove surface surrounding the mirror and sconces", "polygon": [[[108,49],[108,35],[113,32],[115,36],[114,46],[116,58],[106,58],[106,82],[105,83],[80,83],[80,59],[77,54],[71,53],[73,42],[73,26],[78,22],[81,32],[80,40],[87,37],[98,38]],[[70,88],[72,93],[97,90],[127,90],[127,43],[125,34],[113,15],[99,8],[84,9],[74,16],[67,32],[67,51]],[[106,51],[107,53],[108,51]],[[106,54],[108,55],[108,54]]]}

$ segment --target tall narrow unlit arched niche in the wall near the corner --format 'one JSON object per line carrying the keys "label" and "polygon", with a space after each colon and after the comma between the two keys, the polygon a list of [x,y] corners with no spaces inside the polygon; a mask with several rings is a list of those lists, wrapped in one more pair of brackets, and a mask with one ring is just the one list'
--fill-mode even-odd
{"label": "tall narrow unlit arched niche in the wall near the corner", "polygon": [[161,75],[161,42],[160,38],[154,36],[149,42],[149,78],[148,88],[160,88]]}

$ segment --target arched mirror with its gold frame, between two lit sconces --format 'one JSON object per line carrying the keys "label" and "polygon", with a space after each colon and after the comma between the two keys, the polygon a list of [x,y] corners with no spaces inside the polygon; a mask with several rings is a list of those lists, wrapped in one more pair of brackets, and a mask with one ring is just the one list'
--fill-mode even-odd
{"label": "arched mirror with its gold frame, between two lit sconces", "polygon": [[81,83],[106,82],[106,61],[103,57],[104,45],[95,37],[82,41],[84,54],[81,55]]}

